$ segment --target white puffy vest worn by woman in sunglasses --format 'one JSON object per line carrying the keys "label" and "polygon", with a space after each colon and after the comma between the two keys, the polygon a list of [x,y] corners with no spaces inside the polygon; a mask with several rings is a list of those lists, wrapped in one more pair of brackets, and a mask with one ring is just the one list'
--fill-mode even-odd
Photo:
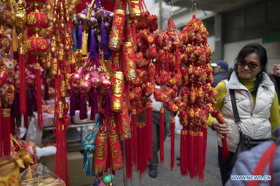
{"label": "white puffy vest worn by woman in sunglasses", "polygon": [[[229,151],[234,153],[239,143],[239,132],[234,120],[229,89],[235,89],[236,105],[241,120],[242,133],[254,139],[270,138],[271,124],[268,118],[270,117],[270,108],[275,96],[275,88],[268,75],[263,73],[263,81],[257,90],[254,110],[252,95],[239,82],[236,73],[231,74],[229,81],[223,81],[226,83],[226,97],[223,100],[221,114],[231,130],[226,136]],[[218,145],[222,147],[221,138],[218,138]]]}

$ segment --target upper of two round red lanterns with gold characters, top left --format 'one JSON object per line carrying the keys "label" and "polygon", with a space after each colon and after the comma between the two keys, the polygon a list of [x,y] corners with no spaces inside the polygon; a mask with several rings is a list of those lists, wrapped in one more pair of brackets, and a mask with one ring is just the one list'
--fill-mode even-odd
{"label": "upper of two round red lanterns with gold characters, top left", "polygon": [[30,12],[26,15],[26,25],[29,27],[47,28],[49,25],[48,15],[42,12]]}

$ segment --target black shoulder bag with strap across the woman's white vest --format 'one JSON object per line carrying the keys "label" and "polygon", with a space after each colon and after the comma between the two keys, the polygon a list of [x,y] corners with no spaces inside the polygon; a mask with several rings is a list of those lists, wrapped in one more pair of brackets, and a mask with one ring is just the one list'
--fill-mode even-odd
{"label": "black shoulder bag with strap across the woman's white vest", "polygon": [[261,144],[264,141],[274,140],[274,142],[276,142],[276,139],[273,139],[272,137],[271,138],[254,139],[254,138],[251,138],[248,135],[242,134],[241,126],[240,126],[241,121],[240,121],[240,117],[239,117],[238,110],[237,110],[237,107],[236,107],[236,99],[235,99],[235,92],[234,91],[235,91],[235,89],[230,89],[231,104],[232,104],[232,110],[233,110],[235,124],[237,124],[240,137],[239,137],[239,143],[237,145],[236,151],[235,151],[235,153],[232,157],[232,160],[231,160],[231,166],[232,167],[234,166],[235,161],[236,161],[239,153],[241,153],[245,150],[250,150],[251,148],[257,146],[258,144]]}

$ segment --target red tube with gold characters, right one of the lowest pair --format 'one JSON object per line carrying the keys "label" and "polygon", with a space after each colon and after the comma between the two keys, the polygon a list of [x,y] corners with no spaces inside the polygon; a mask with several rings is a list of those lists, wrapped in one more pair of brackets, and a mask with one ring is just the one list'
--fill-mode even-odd
{"label": "red tube with gold characters, right one of the lowest pair", "polygon": [[119,170],[124,167],[122,149],[118,133],[112,133],[108,135],[110,158],[112,170]]}

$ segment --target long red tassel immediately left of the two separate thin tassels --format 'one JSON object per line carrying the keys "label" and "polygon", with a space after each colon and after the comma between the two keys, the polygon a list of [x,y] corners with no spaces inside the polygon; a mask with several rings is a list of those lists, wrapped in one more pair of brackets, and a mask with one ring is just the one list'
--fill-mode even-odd
{"label": "long red tassel immediately left of the two separate thin tassels", "polygon": [[147,148],[148,148],[148,159],[153,160],[153,102],[151,100],[147,101],[146,108],[146,127],[148,130],[147,136]]}

